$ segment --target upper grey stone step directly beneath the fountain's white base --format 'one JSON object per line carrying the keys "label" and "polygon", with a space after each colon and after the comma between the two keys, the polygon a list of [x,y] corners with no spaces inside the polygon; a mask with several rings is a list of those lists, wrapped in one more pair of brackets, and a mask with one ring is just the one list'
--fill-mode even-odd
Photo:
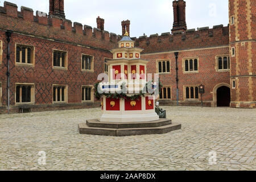
{"label": "upper grey stone step directly beneath the fountain's white base", "polygon": [[171,125],[171,119],[159,119],[151,122],[129,122],[129,123],[114,123],[114,122],[100,122],[98,119],[90,119],[86,121],[89,127],[98,127],[106,129],[133,129],[133,128],[150,128]]}

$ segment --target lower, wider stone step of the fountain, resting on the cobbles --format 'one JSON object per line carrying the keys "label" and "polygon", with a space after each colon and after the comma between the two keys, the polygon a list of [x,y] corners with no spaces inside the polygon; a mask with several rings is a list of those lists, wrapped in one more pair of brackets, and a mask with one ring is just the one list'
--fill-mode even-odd
{"label": "lower, wider stone step of the fountain, resting on the cobbles", "polygon": [[164,134],[170,131],[180,130],[181,124],[171,124],[160,127],[149,127],[149,128],[132,128],[132,129],[109,129],[109,128],[98,128],[89,127],[86,123],[79,124],[80,134],[89,135],[108,135],[114,137],[126,137],[132,135],[152,135],[152,134]]}

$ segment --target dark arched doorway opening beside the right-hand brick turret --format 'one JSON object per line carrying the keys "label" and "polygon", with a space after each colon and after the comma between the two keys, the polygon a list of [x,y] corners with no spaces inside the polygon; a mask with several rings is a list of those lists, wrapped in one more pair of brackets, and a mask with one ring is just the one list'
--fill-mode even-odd
{"label": "dark arched doorway opening beside the right-hand brick turret", "polygon": [[221,86],[217,89],[217,106],[230,106],[230,88],[228,88],[228,86]]}

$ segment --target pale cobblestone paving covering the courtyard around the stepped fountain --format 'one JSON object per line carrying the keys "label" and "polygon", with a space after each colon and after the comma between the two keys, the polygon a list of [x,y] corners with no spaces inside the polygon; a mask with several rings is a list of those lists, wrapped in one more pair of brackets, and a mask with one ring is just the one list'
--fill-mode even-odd
{"label": "pale cobblestone paving covering the courtyard around the stepped fountain", "polygon": [[[182,130],[163,135],[80,135],[100,109],[0,115],[0,170],[256,170],[256,110],[164,107]],[[39,151],[46,165],[38,164]],[[217,164],[209,165],[209,152]]]}

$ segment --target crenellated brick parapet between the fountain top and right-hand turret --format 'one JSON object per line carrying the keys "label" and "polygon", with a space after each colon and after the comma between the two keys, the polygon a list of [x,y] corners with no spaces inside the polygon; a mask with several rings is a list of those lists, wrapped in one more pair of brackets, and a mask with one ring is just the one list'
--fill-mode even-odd
{"label": "crenellated brick parapet between the fountain top and right-hand turret", "polygon": [[224,27],[220,24],[213,28],[201,27],[197,31],[190,29],[185,32],[177,31],[174,34],[166,32],[162,35],[153,34],[149,37],[144,35],[131,39],[135,40],[135,46],[144,49],[142,53],[226,46],[229,44],[229,25]]}

